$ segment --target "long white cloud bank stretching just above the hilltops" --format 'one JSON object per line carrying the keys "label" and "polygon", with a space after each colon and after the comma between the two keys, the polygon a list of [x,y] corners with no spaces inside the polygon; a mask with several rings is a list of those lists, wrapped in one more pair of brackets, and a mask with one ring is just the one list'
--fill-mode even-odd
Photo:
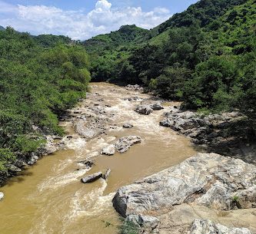
{"label": "long white cloud bank stretching just above the hilltops", "polygon": [[0,25],[11,25],[18,31],[68,35],[82,40],[115,31],[121,25],[153,28],[171,16],[166,8],[155,8],[151,12],[143,12],[140,7],[112,8],[107,0],[99,0],[88,13],[45,5],[10,5],[0,0],[0,13],[3,13]]}

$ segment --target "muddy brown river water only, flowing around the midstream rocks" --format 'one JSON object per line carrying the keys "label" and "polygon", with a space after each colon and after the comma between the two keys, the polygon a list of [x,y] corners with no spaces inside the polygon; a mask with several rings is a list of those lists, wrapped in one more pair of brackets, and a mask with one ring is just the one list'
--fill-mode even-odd
{"label": "muddy brown river water only, flowing around the midstream rocks", "polygon": [[[110,105],[105,111],[115,114],[110,123],[116,128],[85,142],[85,139],[75,136],[71,122],[62,122],[67,133],[74,134],[73,139],[67,141],[67,150],[42,158],[24,175],[13,178],[0,188],[5,193],[0,202],[1,234],[118,233],[120,219],[111,204],[118,187],[194,155],[188,139],[158,124],[162,114],[174,103],[165,104],[165,110],[143,116],[134,111],[140,101],[124,100],[134,96],[150,98],[147,94],[126,91],[111,84],[91,84],[91,94],[79,106],[86,110],[95,104]],[[135,127],[123,129],[125,123]],[[98,156],[107,143],[128,135],[138,135],[143,141],[127,153]],[[96,166],[90,171],[77,163],[87,157],[95,157]],[[104,172],[108,168],[111,175],[107,182],[80,182],[85,174]]]}

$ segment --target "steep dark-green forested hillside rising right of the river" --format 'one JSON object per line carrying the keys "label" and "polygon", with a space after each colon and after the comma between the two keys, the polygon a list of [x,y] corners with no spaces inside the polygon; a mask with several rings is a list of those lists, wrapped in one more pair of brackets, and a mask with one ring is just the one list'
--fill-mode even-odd
{"label": "steep dark-green forested hillside rising right of the river", "polygon": [[201,0],[136,43],[100,50],[90,44],[92,78],[143,84],[188,109],[239,108],[254,120],[255,34],[255,0]]}

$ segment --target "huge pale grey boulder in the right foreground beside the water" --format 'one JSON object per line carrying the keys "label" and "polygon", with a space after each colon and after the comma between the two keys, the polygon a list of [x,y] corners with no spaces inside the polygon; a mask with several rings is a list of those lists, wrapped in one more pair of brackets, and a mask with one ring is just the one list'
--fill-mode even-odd
{"label": "huge pale grey boulder in the right foreground beside the water", "polygon": [[198,153],[196,157],[172,166],[144,180],[118,190],[113,205],[121,216],[156,213],[182,203],[211,209],[234,209],[234,197],[254,207],[256,166],[216,153]]}

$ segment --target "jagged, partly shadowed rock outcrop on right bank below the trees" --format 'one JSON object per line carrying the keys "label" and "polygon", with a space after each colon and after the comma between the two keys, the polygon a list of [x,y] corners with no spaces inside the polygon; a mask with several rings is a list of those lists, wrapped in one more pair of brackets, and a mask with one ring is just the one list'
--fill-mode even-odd
{"label": "jagged, partly shadowed rock outcrop on right bank below the trees", "polygon": [[192,143],[208,152],[232,155],[256,165],[255,136],[242,114],[231,112],[204,116],[193,111],[172,109],[164,115],[161,126],[190,137]]}

